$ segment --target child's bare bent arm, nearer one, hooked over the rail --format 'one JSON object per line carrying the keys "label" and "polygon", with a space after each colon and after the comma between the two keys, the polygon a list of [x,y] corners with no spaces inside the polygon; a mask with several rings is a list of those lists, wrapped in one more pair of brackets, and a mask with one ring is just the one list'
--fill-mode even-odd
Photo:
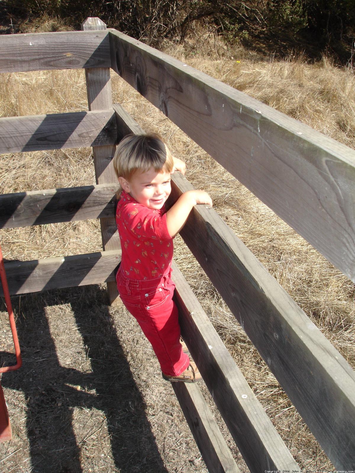
{"label": "child's bare bent arm, nearer one, hooked over the rail", "polygon": [[212,207],[212,199],[204,191],[187,191],[180,195],[167,211],[167,227],[171,238],[174,238],[183,228],[189,213],[196,204],[207,204]]}

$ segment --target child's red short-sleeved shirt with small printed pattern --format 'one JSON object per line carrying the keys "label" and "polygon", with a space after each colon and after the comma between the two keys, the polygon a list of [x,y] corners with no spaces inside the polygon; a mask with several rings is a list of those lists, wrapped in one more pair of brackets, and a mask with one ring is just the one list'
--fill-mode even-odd
{"label": "child's red short-sleeved shirt with small printed pattern", "polygon": [[126,278],[155,279],[169,272],[174,246],[165,212],[165,207],[149,209],[122,191],[116,224],[122,246],[121,271]]}

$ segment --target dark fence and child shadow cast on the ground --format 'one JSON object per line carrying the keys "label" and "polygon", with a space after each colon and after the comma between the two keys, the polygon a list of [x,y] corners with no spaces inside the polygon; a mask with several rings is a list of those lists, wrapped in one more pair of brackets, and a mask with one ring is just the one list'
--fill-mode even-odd
{"label": "dark fence and child shadow cast on the ground", "polygon": [[[6,373],[2,385],[24,393],[31,471],[80,473],[84,460],[93,472],[100,467],[108,471],[112,459],[107,456],[112,456],[118,471],[167,472],[107,310],[106,292],[88,286],[17,296],[12,302],[23,367]],[[58,321],[60,339],[61,318],[70,311],[62,309],[63,304],[71,306],[91,365],[89,373],[59,363],[45,308],[59,307],[51,323],[55,328]],[[75,345],[71,349],[75,357]],[[15,395],[13,402],[23,403],[23,396]],[[75,410],[74,420],[75,407],[82,409]],[[15,435],[23,437],[21,425],[11,423]],[[80,428],[87,432],[84,436]]]}

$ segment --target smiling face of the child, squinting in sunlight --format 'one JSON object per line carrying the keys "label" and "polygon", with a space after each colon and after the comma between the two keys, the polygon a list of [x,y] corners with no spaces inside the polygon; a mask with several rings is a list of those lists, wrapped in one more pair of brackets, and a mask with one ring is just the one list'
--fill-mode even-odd
{"label": "smiling face of the child, squinting in sunlight", "polygon": [[171,192],[170,173],[157,172],[153,167],[145,173],[134,173],[129,181],[122,177],[119,180],[133,199],[153,210],[160,210]]}

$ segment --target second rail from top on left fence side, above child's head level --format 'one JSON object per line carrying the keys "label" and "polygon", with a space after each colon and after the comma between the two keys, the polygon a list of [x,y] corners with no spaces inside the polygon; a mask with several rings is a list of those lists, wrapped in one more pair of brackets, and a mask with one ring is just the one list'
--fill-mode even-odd
{"label": "second rail from top on left fence side, above child's head level", "polygon": [[0,118],[0,153],[115,144],[113,110]]}

